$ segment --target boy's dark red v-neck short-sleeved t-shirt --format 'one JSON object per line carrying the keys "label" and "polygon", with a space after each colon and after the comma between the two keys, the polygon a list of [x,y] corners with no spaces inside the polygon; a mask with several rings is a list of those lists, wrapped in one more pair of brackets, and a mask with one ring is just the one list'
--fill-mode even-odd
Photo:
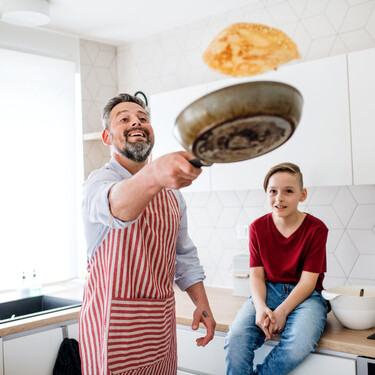
{"label": "boy's dark red v-neck short-sleeved t-shirt", "polygon": [[264,267],[266,280],[297,284],[302,271],[319,273],[316,290],[323,289],[328,229],[306,214],[299,228],[285,238],[276,228],[272,214],[250,225],[250,267]]}

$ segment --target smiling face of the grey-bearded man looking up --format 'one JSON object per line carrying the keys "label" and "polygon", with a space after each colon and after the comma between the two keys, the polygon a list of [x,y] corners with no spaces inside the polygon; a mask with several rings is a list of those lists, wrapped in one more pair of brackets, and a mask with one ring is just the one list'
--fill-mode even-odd
{"label": "smiling face of the grey-bearded man looking up", "polygon": [[109,134],[116,152],[144,162],[154,146],[154,132],[146,111],[138,104],[123,102],[111,111]]}

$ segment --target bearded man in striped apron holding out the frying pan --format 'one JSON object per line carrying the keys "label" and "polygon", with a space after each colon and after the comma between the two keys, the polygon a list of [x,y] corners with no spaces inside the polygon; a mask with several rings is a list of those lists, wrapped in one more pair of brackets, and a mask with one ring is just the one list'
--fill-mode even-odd
{"label": "bearded man in striped apron holding out the frying pan", "polygon": [[84,185],[89,276],[79,320],[82,373],[174,375],[173,279],[196,305],[192,328],[207,327],[198,346],[213,338],[216,325],[177,190],[201,171],[183,151],[148,163],[154,132],[137,97],[112,98],[103,125],[112,158]]}

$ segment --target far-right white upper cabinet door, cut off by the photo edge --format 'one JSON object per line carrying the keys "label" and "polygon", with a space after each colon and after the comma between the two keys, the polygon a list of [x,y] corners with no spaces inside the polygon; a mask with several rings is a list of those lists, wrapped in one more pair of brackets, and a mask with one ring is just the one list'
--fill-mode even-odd
{"label": "far-right white upper cabinet door, cut off by the photo edge", "polygon": [[354,184],[375,183],[375,48],[348,54]]}

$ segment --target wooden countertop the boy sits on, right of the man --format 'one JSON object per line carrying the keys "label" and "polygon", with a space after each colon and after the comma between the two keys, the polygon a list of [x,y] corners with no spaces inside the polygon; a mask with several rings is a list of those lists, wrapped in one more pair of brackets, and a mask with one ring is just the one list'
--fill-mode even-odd
{"label": "wooden countertop the boy sits on, right of the man", "polygon": [[[216,320],[216,330],[227,332],[237,311],[247,300],[245,297],[233,296],[232,289],[206,287],[211,310]],[[177,323],[191,325],[194,304],[187,293],[175,288]],[[367,330],[351,330],[343,327],[332,312],[328,314],[328,321],[318,348],[337,352],[375,357],[375,340],[367,336],[375,333],[375,327]]]}

